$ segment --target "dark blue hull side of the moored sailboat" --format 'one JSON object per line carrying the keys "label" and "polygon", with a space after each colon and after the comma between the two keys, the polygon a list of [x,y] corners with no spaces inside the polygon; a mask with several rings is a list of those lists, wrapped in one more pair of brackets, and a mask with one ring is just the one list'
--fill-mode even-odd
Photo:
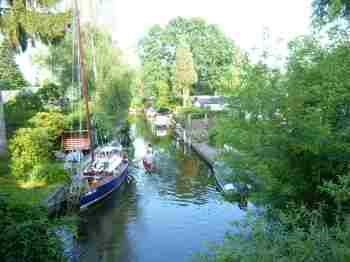
{"label": "dark blue hull side of the moored sailboat", "polygon": [[126,167],[123,173],[116,176],[111,181],[103,184],[93,191],[90,191],[80,197],[80,210],[87,208],[88,206],[100,201],[101,199],[108,196],[110,193],[118,189],[128,177],[128,167]]}

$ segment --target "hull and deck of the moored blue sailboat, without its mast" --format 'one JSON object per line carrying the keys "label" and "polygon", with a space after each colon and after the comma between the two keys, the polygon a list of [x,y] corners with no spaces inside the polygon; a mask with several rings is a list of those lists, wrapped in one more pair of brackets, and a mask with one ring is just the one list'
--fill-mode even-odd
{"label": "hull and deck of the moored blue sailboat, without its mast", "polygon": [[80,196],[80,209],[103,199],[118,189],[128,175],[128,160],[121,148],[106,146],[96,150],[96,160],[80,177],[85,189]]}

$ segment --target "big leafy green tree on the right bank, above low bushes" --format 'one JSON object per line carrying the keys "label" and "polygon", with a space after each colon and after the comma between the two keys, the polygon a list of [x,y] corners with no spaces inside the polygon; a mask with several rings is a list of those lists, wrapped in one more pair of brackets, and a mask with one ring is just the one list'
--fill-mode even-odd
{"label": "big leafy green tree on the right bank, above low bushes", "polygon": [[283,207],[324,201],[334,215],[321,187],[349,173],[349,47],[304,37],[290,43],[285,75],[246,65],[234,111],[218,125],[222,143],[242,153],[242,162],[228,155],[234,166],[263,177]]}

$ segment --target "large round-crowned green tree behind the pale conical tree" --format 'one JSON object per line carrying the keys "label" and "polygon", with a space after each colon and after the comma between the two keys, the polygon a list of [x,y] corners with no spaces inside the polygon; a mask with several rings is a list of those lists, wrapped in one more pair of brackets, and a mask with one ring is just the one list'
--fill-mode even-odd
{"label": "large round-crowned green tree behind the pale conical tree", "polygon": [[172,19],[165,27],[155,25],[139,42],[138,53],[144,69],[145,91],[158,95],[159,80],[167,82],[175,95],[176,49],[185,41],[189,46],[198,82],[194,93],[214,93],[222,75],[235,67],[241,51],[224,32],[203,18]]}

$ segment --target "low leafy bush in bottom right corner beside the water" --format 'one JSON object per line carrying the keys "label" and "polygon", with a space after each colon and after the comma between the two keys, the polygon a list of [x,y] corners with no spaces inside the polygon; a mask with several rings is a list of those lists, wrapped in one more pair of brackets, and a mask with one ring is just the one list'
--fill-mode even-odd
{"label": "low leafy bush in bottom right corner beside the water", "polygon": [[[281,215],[273,222],[265,217],[237,223],[238,233],[230,234],[212,256],[201,261],[350,261],[350,226],[348,223],[328,227],[319,214],[298,210]],[[308,221],[300,226],[300,220]],[[304,222],[305,222],[304,221]]]}

